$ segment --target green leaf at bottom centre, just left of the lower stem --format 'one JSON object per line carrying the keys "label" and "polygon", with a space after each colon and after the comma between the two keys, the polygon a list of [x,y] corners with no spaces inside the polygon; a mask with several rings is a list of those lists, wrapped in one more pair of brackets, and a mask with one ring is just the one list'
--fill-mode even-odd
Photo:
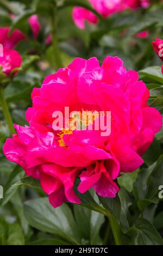
{"label": "green leaf at bottom centre, just left of the lower stem", "polygon": [[99,237],[99,229],[104,222],[104,216],[79,205],[74,205],[74,215],[78,223],[79,234],[84,239],[83,243],[101,245],[102,239]]}

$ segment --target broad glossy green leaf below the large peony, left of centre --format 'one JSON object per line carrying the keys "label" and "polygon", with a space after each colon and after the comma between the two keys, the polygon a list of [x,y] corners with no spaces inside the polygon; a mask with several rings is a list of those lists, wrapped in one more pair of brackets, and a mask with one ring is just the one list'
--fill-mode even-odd
{"label": "broad glossy green leaf below the large peony, left of centre", "polygon": [[32,227],[80,244],[77,224],[66,204],[54,209],[48,198],[28,200],[24,203],[24,214]]}

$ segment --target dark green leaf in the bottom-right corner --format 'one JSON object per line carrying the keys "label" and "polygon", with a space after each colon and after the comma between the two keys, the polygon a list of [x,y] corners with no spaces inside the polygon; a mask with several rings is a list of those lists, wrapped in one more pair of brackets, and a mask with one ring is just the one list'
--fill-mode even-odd
{"label": "dark green leaf in the bottom-right corner", "polygon": [[127,234],[131,237],[132,245],[163,245],[160,234],[145,218],[138,218]]}

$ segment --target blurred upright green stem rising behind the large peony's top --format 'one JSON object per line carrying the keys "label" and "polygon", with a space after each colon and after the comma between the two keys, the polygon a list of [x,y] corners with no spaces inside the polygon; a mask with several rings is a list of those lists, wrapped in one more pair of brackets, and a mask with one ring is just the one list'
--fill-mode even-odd
{"label": "blurred upright green stem rising behind the large peony's top", "polygon": [[53,6],[51,15],[51,28],[52,28],[52,46],[56,68],[62,68],[61,53],[58,46],[58,39],[56,35],[56,8]]}

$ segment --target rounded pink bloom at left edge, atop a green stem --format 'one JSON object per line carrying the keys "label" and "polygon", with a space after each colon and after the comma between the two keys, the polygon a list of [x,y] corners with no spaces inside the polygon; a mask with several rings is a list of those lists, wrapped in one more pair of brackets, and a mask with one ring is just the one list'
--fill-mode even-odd
{"label": "rounded pink bloom at left edge, atop a green stem", "polygon": [[21,63],[22,58],[17,51],[7,48],[3,49],[3,57],[0,57],[0,66],[2,66],[2,71],[6,75],[10,75],[12,70],[20,68]]}

